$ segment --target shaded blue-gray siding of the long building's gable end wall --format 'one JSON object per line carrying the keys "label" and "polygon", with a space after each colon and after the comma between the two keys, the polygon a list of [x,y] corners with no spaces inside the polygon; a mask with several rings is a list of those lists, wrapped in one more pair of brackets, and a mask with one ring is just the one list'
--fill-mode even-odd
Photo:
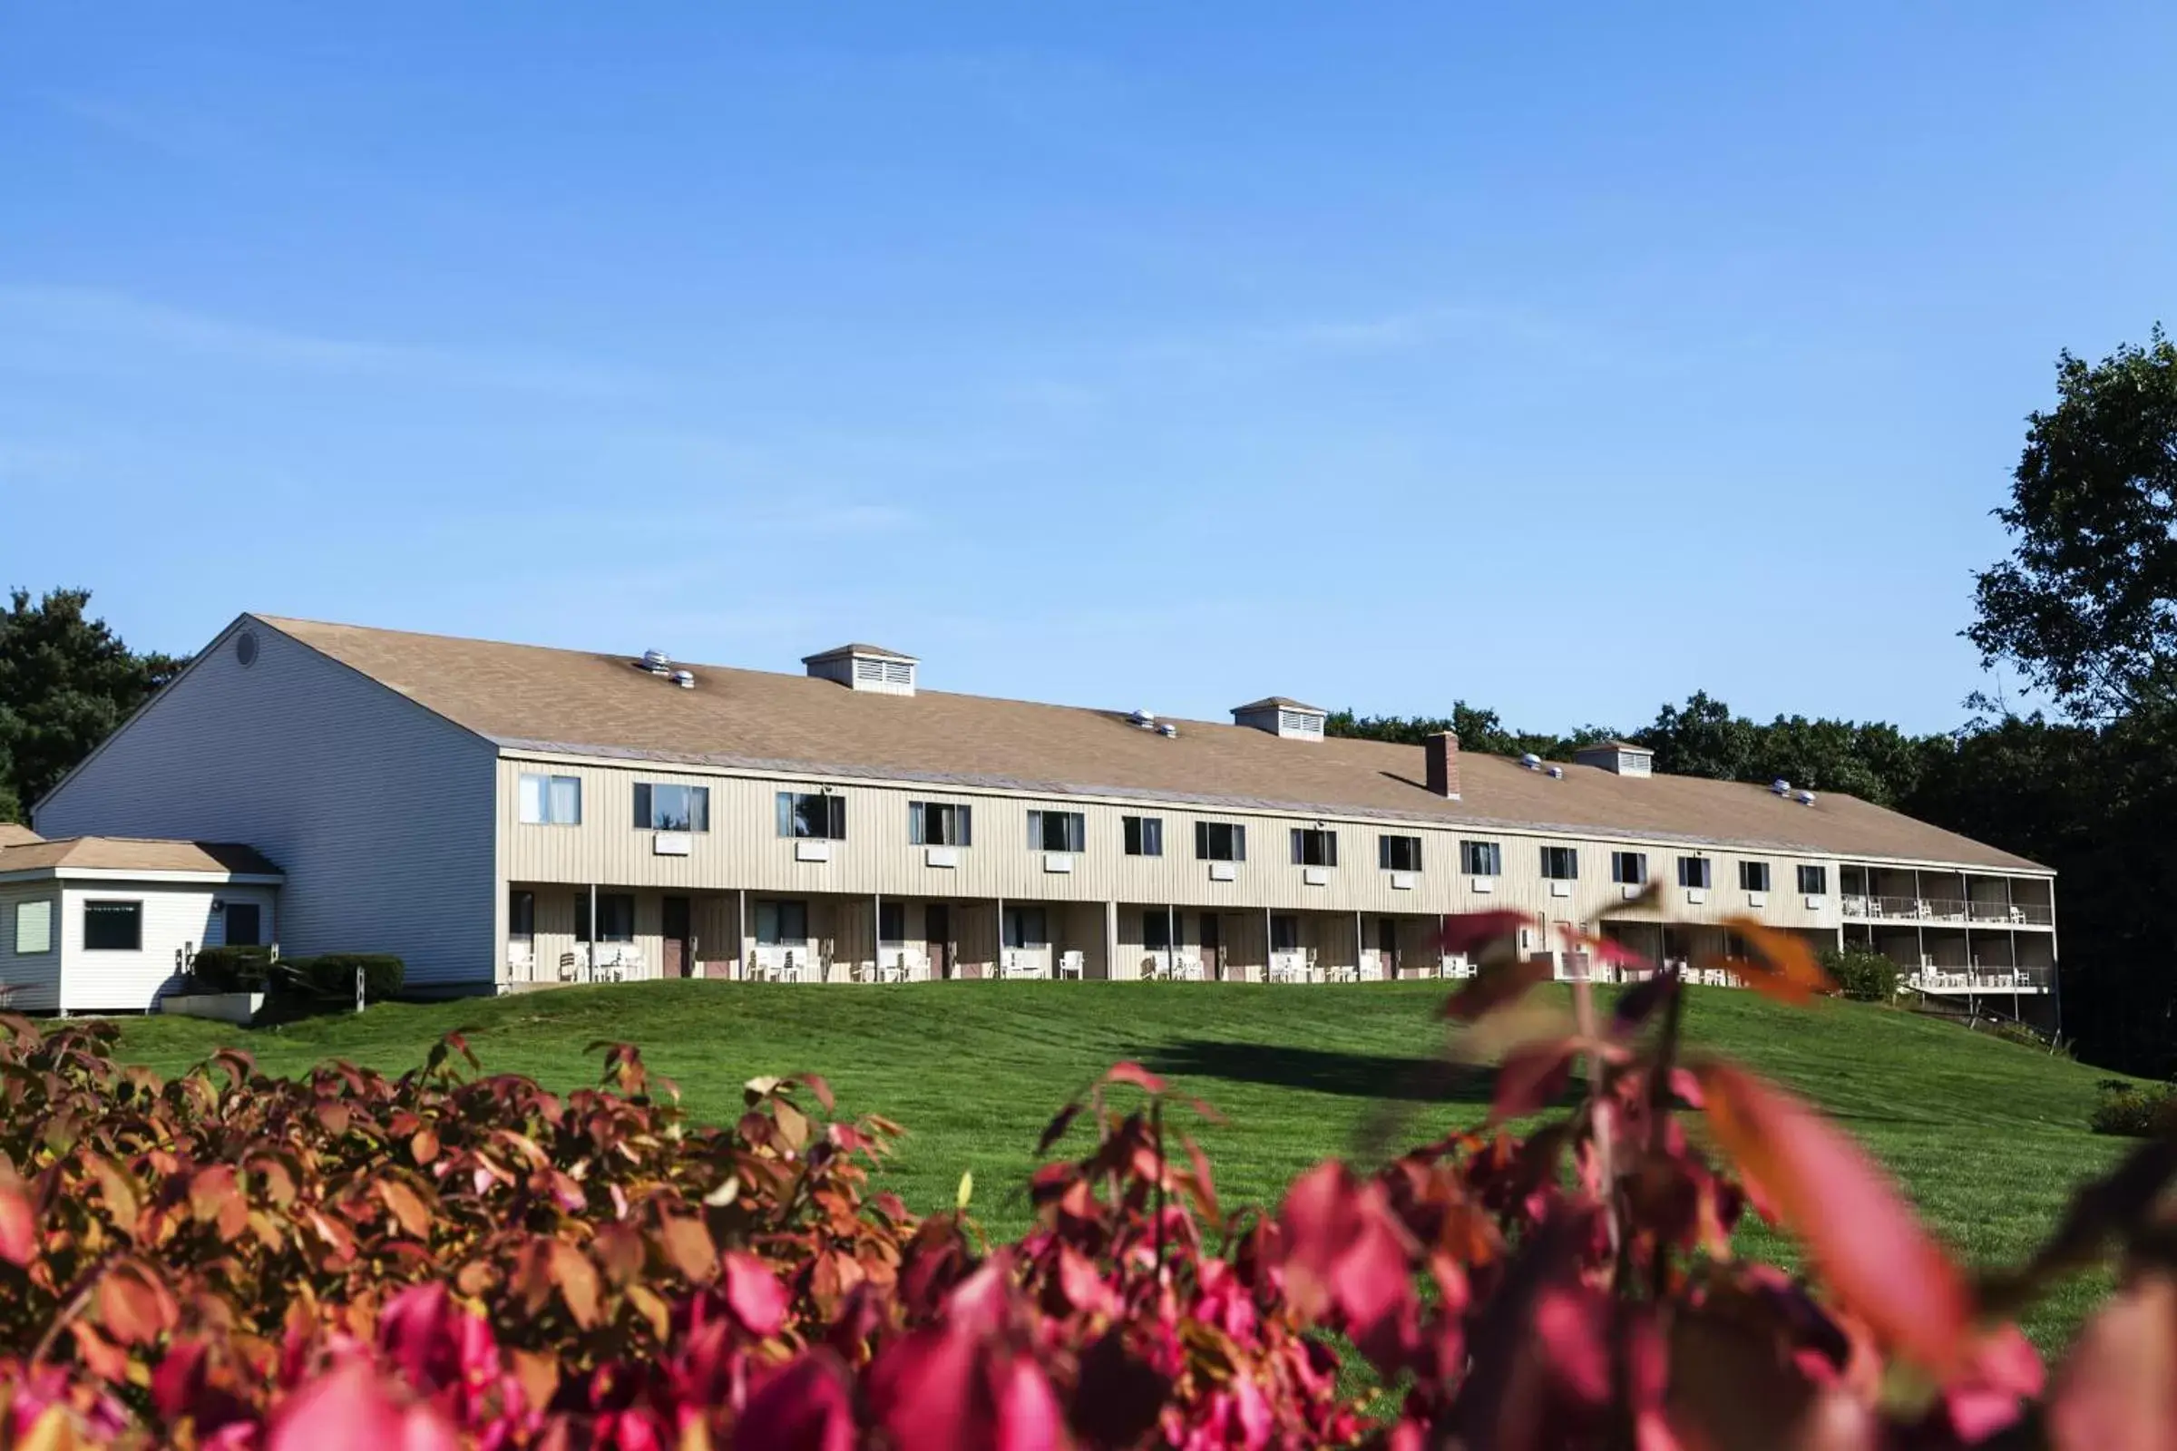
{"label": "shaded blue-gray siding of the long building's gable end wall", "polygon": [[229,629],[37,809],[48,835],[246,842],[287,872],[281,951],[398,953],[490,990],[496,746],[279,631]]}

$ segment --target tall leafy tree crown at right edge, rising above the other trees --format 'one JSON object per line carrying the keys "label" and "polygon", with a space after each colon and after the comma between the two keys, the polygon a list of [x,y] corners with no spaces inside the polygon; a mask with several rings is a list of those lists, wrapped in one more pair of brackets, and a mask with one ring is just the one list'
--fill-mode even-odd
{"label": "tall leafy tree crown at right edge, rising above the other trees", "polygon": [[2057,357],[2057,402],[2027,420],[2012,557],[1977,574],[1966,637],[2073,718],[2177,700],[2177,346]]}

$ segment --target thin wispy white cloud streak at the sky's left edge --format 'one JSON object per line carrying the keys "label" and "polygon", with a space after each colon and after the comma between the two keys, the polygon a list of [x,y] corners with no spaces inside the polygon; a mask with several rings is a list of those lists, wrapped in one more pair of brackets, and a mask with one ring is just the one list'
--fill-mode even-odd
{"label": "thin wispy white cloud streak at the sky's left edge", "polygon": [[568,396],[636,387],[625,372],[577,361],[324,337],[96,287],[0,285],[0,365],[83,372],[137,365],[146,352],[429,387]]}

